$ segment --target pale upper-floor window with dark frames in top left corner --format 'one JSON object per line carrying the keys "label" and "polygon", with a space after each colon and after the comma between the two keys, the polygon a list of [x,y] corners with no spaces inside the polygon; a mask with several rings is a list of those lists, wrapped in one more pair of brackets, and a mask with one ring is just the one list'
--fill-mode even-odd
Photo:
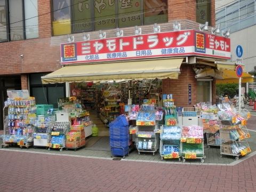
{"label": "pale upper-floor window with dark frames in top left corner", "polygon": [[37,0],[0,0],[0,42],[38,37]]}

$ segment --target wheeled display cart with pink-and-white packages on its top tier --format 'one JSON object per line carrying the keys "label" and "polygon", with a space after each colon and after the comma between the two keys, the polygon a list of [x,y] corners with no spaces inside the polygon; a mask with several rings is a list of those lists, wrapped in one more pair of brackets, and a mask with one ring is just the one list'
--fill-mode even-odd
{"label": "wheeled display cart with pink-and-white packages on its top tier", "polygon": [[186,159],[201,159],[204,163],[204,137],[203,127],[198,125],[183,126],[181,133],[181,156],[182,161]]}

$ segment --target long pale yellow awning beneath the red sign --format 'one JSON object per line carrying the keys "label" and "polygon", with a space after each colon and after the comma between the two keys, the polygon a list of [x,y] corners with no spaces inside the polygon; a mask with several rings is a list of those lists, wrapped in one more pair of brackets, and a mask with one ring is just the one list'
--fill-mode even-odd
{"label": "long pale yellow awning beneath the red sign", "polygon": [[100,63],[62,67],[42,76],[42,83],[178,78],[183,59]]}

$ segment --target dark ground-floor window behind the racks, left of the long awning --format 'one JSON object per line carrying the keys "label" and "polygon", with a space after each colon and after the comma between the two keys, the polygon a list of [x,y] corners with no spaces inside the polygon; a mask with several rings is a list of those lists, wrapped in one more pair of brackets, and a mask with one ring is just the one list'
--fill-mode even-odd
{"label": "dark ground-floor window behind the racks, left of the long awning", "polygon": [[36,104],[52,104],[58,108],[58,98],[66,95],[65,83],[43,85],[41,77],[47,74],[30,74],[29,85],[30,95],[35,97]]}

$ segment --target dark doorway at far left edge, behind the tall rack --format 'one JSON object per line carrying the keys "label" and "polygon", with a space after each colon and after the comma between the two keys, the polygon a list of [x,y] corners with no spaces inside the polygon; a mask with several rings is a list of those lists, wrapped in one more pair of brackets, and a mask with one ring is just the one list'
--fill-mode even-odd
{"label": "dark doorway at far left edge, behind the tall rack", "polygon": [[0,119],[1,126],[0,130],[4,129],[4,119],[3,119],[3,108],[4,101],[7,99],[7,91],[9,90],[21,90],[21,79],[20,76],[1,76],[0,77]]}

